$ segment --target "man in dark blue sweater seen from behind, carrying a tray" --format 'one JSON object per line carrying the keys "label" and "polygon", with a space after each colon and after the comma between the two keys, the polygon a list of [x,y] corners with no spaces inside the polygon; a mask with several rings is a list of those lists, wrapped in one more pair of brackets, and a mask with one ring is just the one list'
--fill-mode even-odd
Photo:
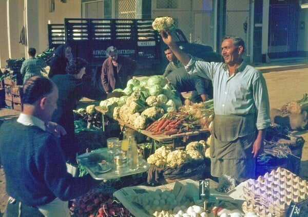
{"label": "man in dark blue sweater seen from behind, carrying a tray", "polygon": [[10,196],[4,216],[70,216],[68,200],[100,182],[73,178],[58,138],[46,131],[58,90],[48,78],[34,76],[24,85],[24,110],[0,126],[0,157]]}

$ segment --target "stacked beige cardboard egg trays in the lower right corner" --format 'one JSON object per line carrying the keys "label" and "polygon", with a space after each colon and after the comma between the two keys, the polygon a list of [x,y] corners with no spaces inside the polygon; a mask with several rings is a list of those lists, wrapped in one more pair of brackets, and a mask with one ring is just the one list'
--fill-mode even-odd
{"label": "stacked beige cardboard egg trays in the lower right corner", "polygon": [[261,216],[285,216],[292,201],[308,198],[308,183],[287,169],[278,167],[257,180],[247,180],[243,187],[243,211],[255,211]]}

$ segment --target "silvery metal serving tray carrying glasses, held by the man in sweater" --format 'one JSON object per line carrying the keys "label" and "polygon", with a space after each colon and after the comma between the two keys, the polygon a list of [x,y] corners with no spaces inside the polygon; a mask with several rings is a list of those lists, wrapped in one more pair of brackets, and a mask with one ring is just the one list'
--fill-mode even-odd
{"label": "silvery metal serving tray carrying glasses, held by the man in sweater", "polygon": [[[139,168],[136,170],[130,170],[127,167],[121,168],[120,172],[115,172],[115,166],[113,162],[108,162],[108,154],[107,154],[108,148],[100,148],[94,151],[91,151],[90,153],[85,153],[80,156],[78,156],[76,159],[79,164],[85,167],[87,172],[91,175],[93,179],[97,180],[110,180],[110,179],[116,179],[124,176],[133,175],[140,172],[145,172],[149,169],[150,165],[144,160],[139,158]],[[103,156],[105,160],[107,160],[108,164],[111,166],[111,169],[106,172],[100,171],[98,162],[91,162],[89,161],[89,156],[93,154],[100,154]]]}

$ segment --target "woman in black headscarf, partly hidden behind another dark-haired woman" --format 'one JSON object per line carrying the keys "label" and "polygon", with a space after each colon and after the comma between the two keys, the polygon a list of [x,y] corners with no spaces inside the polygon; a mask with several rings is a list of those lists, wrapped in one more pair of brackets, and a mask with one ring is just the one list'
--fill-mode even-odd
{"label": "woman in black headscarf, partly hidden behind another dark-haired woman", "polygon": [[72,49],[68,45],[60,45],[54,51],[54,55],[51,58],[50,70],[48,77],[51,78],[57,74],[66,74],[66,63],[72,58]]}

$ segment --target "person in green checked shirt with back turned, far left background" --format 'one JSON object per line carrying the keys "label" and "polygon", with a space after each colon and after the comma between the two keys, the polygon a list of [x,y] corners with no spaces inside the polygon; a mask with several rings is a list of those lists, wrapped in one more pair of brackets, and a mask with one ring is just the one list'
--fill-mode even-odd
{"label": "person in green checked shirt with back turned, far left background", "polygon": [[47,63],[42,58],[35,58],[35,48],[29,48],[28,54],[29,58],[23,62],[21,68],[23,83],[34,75],[41,75],[42,68],[47,67]]}

